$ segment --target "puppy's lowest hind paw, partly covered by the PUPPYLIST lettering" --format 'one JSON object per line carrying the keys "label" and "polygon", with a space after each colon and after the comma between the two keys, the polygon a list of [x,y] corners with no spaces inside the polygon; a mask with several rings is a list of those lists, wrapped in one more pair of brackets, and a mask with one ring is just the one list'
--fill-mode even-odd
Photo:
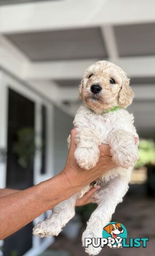
{"label": "puppy's lowest hind paw, partly covered by the PUPPYLIST lettering", "polygon": [[[93,230],[85,230],[82,236],[82,243],[83,246],[85,247],[85,238],[95,238],[96,235],[94,234]],[[88,245],[88,247],[85,247],[85,252],[88,253],[89,255],[97,255],[101,252],[102,248],[101,246],[99,247],[94,247],[92,244]]]}

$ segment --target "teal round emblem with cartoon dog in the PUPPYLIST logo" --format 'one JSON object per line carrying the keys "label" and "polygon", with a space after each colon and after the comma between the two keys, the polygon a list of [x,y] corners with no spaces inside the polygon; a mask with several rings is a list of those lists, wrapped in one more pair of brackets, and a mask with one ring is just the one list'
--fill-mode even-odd
{"label": "teal round emblem with cartoon dog in the PUPPYLIST logo", "polygon": [[127,230],[120,222],[110,222],[103,227],[102,237],[108,238],[108,247],[120,248],[123,247],[122,238],[127,238]]}

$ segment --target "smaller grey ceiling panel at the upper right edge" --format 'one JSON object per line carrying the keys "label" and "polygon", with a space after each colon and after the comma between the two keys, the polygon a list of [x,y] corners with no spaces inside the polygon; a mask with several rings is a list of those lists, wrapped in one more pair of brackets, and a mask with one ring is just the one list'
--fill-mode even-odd
{"label": "smaller grey ceiling panel at the upper right edge", "polygon": [[155,23],[115,26],[121,57],[155,55]]}

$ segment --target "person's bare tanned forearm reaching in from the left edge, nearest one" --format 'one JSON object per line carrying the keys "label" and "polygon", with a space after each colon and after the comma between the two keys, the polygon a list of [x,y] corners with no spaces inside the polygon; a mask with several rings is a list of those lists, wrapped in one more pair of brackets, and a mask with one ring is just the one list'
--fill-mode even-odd
{"label": "person's bare tanned forearm reaching in from the left edge, nearest one", "polygon": [[13,234],[78,188],[68,185],[63,173],[31,188],[0,198],[0,239]]}

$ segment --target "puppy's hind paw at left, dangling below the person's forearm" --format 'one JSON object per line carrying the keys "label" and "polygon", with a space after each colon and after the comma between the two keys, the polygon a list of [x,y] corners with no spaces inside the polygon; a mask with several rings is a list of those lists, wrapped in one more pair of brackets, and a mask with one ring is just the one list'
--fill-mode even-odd
{"label": "puppy's hind paw at left, dangling below the person's forearm", "polygon": [[39,221],[33,228],[33,234],[39,237],[58,236],[61,228],[56,222],[48,222],[47,220]]}

